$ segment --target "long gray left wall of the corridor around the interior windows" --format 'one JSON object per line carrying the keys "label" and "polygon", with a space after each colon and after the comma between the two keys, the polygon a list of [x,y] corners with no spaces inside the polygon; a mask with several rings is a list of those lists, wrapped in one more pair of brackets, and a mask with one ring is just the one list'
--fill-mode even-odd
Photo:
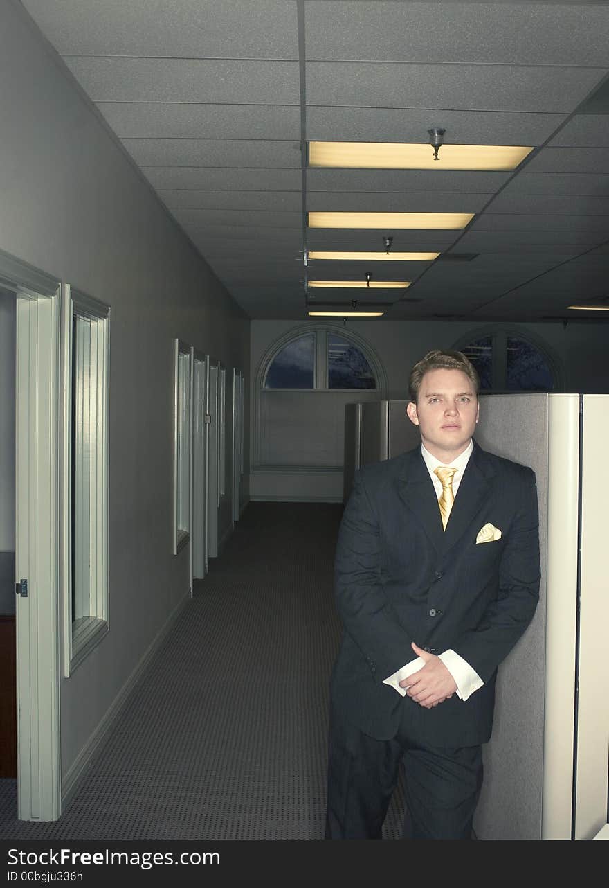
{"label": "long gray left wall of the corridor around the interior windows", "polygon": [[0,248],[112,310],[110,631],[61,688],[66,773],[188,590],[187,549],[171,553],[173,338],[247,377],[249,321],[7,0],[0,67]]}

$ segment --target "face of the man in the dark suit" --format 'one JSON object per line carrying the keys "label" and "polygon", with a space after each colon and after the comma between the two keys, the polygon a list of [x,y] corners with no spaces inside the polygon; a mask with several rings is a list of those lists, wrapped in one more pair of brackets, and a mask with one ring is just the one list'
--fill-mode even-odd
{"label": "face of the man in the dark suit", "polygon": [[463,370],[428,370],[418,401],[408,403],[407,414],[419,426],[430,453],[450,462],[468,446],[478,422],[479,403],[471,379]]}

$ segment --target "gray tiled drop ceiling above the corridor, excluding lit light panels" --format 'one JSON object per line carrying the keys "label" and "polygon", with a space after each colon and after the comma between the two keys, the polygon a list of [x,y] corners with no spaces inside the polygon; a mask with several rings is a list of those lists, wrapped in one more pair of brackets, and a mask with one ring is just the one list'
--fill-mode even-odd
{"label": "gray tiled drop ceiling above the corridor, excluding lit light panels", "polygon": [[[156,0],[154,17],[149,0],[62,0],[60,14],[48,0],[24,5],[246,311],[257,317],[276,299],[266,316],[295,308],[302,316],[295,0]],[[305,0],[307,136],[415,141],[441,125],[457,143],[480,141],[483,132],[495,144],[538,146],[605,75],[608,15],[600,4]],[[439,114],[441,122],[430,120]],[[609,149],[599,116],[567,123],[482,214],[509,174],[442,172],[430,182],[417,171],[308,170],[310,203],[446,211],[447,202],[462,210],[469,201],[478,217],[466,234],[395,232],[393,249],[456,243],[480,252],[479,275],[478,260],[469,270],[425,266],[412,295],[431,288],[432,273],[446,283],[461,274],[463,299],[466,289],[489,295],[602,241]],[[554,169],[561,178],[548,186]],[[530,190],[526,175],[537,177]],[[578,199],[561,201],[561,185]],[[310,230],[308,247],[379,249],[381,234]],[[238,261],[231,263],[227,244],[237,245]],[[482,274],[483,267],[490,270]],[[441,302],[433,298],[407,307],[423,316]]]}

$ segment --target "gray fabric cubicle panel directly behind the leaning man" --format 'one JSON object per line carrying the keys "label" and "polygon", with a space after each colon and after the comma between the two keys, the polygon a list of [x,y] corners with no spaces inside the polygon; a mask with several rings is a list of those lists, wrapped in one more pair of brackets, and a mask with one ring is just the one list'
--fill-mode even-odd
{"label": "gray fabric cubicle panel directly behind the leaning man", "polygon": [[534,469],[542,552],[540,603],[497,678],[493,736],[483,748],[485,781],[474,821],[481,839],[542,838],[548,426],[545,393],[480,397],[479,445]]}

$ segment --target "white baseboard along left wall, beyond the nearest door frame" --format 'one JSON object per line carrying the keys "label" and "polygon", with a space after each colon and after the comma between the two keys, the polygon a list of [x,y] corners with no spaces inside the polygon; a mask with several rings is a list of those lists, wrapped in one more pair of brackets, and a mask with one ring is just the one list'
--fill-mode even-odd
{"label": "white baseboard along left wall, beyond the nearest door frame", "polygon": [[178,605],[174,607],[174,609],[171,611],[169,617],[162,625],[162,628],[156,633],[156,636],[147,647],[146,652],[139,660],[138,665],[131,672],[129,678],[127,678],[119,693],[116,694],[114,702],[110,705],[106,714],[99,722],[99,725],[95,728],[93,733],[91,733],[91,737],[84,744],[83,749],[81,749],[81,751],[75,757],[75,761],[73,762],[73,764],[70,765],[67,773],[61,781],[62,808],[67,805],[70,798],[74,795],[75,789],[81,781],[83,774],[92,764],[93,758],[95,757],[96,753],[107,740],[107,735],[115,724],[116,718],[118,718],[118,716],[121,714],[124,702],[126,701],[133,687],[138,682],[138,679],[141,677],[144,670],[146,670],[146,666],[153,658],[158,647],[161,646],[162,641],[169,633],[174,622],[176,622],[176,620],[178,619],[178,616],[181,613],[182,609],[186,607],[190,600],[190,594],[187,593],[186,596],[181,599],[181,601],[178,602]]}

